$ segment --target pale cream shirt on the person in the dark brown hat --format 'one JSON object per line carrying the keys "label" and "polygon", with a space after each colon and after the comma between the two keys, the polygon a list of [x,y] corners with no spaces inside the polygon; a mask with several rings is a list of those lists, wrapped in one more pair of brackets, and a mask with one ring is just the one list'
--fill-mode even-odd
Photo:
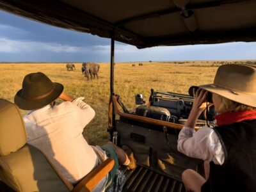
{"label": "pale cream shirt on the person in the dark brown hat", "polygon": [[72,184],[82,179],[100,159],[83,137],[95,111],[80,97],[30,111],[24,116],[27,143],[39,148]]}

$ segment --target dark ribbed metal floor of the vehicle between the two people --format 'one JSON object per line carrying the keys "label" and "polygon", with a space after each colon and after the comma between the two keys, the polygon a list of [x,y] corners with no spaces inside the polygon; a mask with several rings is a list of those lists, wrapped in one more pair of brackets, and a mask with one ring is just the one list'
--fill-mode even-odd
{"label": "dark ribbed metal floor of the vehicle between the two people", "polygon": [[186,191],[182,182],[166,177],[151,170],[138,166],[135,170],[125,173],[126,182],[123,191]]}

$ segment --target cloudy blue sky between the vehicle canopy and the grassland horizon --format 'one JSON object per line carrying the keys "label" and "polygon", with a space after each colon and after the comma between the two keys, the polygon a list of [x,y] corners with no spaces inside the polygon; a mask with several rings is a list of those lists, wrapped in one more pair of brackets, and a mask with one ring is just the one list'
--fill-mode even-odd
{"label": "cloudy blue sky between the vehicle canopy and the grassland horizon", "polygon": [[[0,11],[0,61],[109,62],[110,40]],[[116,42],[115,61],[255,60],[256,43],[137,49]]]}

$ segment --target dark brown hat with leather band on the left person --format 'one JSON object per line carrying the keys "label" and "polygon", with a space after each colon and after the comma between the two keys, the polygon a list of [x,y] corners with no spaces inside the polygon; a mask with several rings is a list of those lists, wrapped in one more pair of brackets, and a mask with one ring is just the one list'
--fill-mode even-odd
{"label": "dark brown hat with leather band on the left person", "polygon": [[22,89],[16,93],[14,102],[20,109],[40,109],[56,100],[63,92],[63,85],[52,83],[42,72],[24,77]]}

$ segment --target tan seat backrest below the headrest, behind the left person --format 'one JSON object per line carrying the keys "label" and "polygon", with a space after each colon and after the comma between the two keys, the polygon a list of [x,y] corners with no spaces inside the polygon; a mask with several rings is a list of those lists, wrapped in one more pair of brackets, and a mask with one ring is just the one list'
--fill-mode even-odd
{"label": "tan seat backrest below the headrest, behind the left person", "polygon": [[15,191],[70,191],[44,155],[31,145],[0,157],[0,179]]}

